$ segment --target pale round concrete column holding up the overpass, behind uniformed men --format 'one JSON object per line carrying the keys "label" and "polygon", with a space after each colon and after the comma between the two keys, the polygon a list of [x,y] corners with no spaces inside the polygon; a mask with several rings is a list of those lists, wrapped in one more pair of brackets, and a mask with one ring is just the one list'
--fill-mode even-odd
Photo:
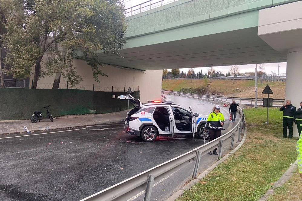
{"label": "pale round concrete column holding up the overpass, behind uniformed men", "polygon": [[[302,47],[287,51],[285,99],[290,99],[298,109],[302,101]],[[288,79],[290,78],[290,79]],[[294,137],[298,137],[297,126],[294,127]]]}

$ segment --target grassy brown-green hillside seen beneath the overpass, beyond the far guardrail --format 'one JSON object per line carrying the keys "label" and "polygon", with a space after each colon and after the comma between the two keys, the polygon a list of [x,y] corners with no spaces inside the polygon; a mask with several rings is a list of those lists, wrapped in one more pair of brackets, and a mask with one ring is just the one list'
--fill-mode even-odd
{"label": "grassy brown-green hillside seen beneath the overpass, beyond the far guardrail", "polygon": [[[265,86],[270,86],[273,94],[270,98],[285,99],[284,81],[263,81],[258,80],[257,97],[267,98],[267,94],[261,92]],[[162,89],[172,91],[182,91],[201,95],[217,95],[228,97],[255,97],[255,80],[221,80],[212,79],[207,82],[204,79],[164,79],[162,80]]]}

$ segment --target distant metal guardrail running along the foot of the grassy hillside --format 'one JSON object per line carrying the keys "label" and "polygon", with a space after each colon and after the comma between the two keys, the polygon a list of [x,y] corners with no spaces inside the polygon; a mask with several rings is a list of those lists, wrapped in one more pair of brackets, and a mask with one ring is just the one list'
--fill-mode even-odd
{"label": "distant metal guardrail running along the foot of the grassy hillside", "polygon": [[[185,92],[178,92],[178,91],[171,91],[171,90],[162,90],[163,93],[169,93],[170,95],[182,95],[182,96],[187,96],[187,97],[196,97],[198,99],[206,99],[207,101],[210,100],[219,100],[219,101],[226,101],[228,102],[228,100],[238,100],[239,104],[241,103],[241,100],[243,101],[248,101],[251,102],[251,105],[253,104],[252,102],[255,102],[256,99],[255,98],[241,98],[241,97],[226,97],[226,96],[207,96],[207,95],[196,95],[196,94],[192,94],[192,93],[185,93]],[[263,99],[259,98],[257,99],[257,101],[260,101],[260,105],[262,105],[263,103]],[[281,105],[283,105],[284,103],[284,99],[273,99],[273,103],[281,103]],[[273,105],[274,106],[274,105]],[[279,106],[279,105],[278,105]]]}

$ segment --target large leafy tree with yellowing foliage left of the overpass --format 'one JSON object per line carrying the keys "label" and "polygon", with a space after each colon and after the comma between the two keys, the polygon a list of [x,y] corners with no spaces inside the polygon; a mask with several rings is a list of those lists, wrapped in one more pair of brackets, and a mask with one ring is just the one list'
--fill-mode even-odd
{"label": "large leafy tree with yellowing foliage left of the overpass", "polygon": [[121,0],[25,0],[23,5],[22,23],[14,16],[7,20],[5,45],[8,55],[5,62],[10,65],[7,73],[16,78],[33,73],[32,88],[36,89],[39,77],[45,75],[41,71],[42,58],[48,54],[50,57],[62,56],[63,64],[64,60],[71,60],[60,69],[51,64],[56,62],[48,61],[47,70],[57,70],[54,85],[59,83],[61,72],[65,72],[70,80],[78,80],[76,71],[70,68],[74,57],[91,66],[97,82],[100,82],[98,76],[107,76],[99,68],[103,63],[97,60],[96,51],[120,55],[119,50],[126,43]]}

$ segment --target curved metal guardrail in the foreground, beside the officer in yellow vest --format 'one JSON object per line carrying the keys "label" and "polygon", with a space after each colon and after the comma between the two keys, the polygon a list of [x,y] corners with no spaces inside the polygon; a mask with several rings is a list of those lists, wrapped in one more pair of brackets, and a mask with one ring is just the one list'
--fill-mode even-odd
{"label": "curved metal guardrail in the foreground, beside the officer in yellow vest", "polygon": [[[194,96],[192,97],[196,98]],[[240,116],[239,122],[235,125],[234,128],[223,134],[221,137],[203,144],[202,146],[199,146],[185,154],[168,160],[165,163],[137,174],[127,180],[110,186],[109,188],[95,193],[80,201],[125,201],[142,192],[145,192],[144,201],[149,201],[151,199],[153,183],[162,180],[163,178],[169,176],[171,173],[174,173],[182,167],[185,167],[193,162],[194,168],[192,170],[192,178],[195,178],[199,164],[201,163],[201,156],[207,154],[209,151],[212,151],[214,148],[218,148],[219,159],[222,157],[223,142],[226,139],[231,137],[231,145],[229,149],[233,149],[233,144],[236,136],[238,137],[238,141],[241,141],[241,135],[243,134],[244,130],[244,115],[240,107],[238,107],[238,112],[239,114],[242,114]]]}

